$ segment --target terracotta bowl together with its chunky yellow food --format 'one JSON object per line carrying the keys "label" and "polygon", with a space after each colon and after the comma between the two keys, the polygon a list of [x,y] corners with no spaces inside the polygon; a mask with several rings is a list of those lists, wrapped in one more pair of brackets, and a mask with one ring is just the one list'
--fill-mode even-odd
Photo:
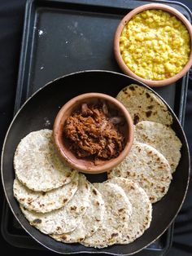
{"label": "terracotta bowl together with its chunky yellow food", "polygon": [[151,3],[120,21],[114,39],[122,71],[148,86],[166,86],[192,65],[192,26],[180,11]]}

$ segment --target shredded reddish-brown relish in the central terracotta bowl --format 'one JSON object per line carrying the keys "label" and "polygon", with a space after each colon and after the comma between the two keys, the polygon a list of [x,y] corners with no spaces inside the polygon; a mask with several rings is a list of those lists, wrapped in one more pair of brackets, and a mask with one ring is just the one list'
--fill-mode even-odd
{"label": "shredded reddish-brown relish in the central terracotta bowl", "polygon": [[82,104],[64,124],[63,135],[77,157],[108,160],[124,149],[124,136],[119,126],[122,117],[111,116],[107,104]]}

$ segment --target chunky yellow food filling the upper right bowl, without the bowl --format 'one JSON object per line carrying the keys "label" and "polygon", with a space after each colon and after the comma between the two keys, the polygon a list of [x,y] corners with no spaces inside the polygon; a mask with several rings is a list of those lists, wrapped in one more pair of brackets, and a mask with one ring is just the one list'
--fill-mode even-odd
{"label": "chunky yellow food filling the upper right bowl, without the bowl", "polygon": [[120,54],[137,76],[164,80],[179,73],[189,60],[190,35],[174,15],[142,11],[124,26]]}

